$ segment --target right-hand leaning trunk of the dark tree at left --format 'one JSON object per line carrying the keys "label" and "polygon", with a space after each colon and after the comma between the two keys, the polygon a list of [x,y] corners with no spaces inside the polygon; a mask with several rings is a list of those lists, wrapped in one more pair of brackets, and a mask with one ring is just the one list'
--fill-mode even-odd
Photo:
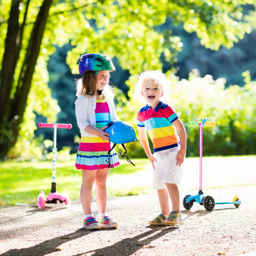
{"label": "right-hand leaning trunk of the dark tree at left", "polygon": [[36,61],[40,52],[43,32],[46,27],[50,6],[52,4],[53,0],[44,0],[43,4],[41,5],[36,22],[33,26],[31,38],[28,43],[26,57],[18,78],[18,85],[16,86],[14,99],[10,100],[9,95],[8,100],[11,102],[9,110],[4,113],[5,118],[0,119],[0,159],[3,159],[4,156],[6,156],[8,151],[16,144],[18,139],[18,132],[20,125],[23,122],[23,115],[26,110],[28,93],[31,89],[33,72],[35,70]]}

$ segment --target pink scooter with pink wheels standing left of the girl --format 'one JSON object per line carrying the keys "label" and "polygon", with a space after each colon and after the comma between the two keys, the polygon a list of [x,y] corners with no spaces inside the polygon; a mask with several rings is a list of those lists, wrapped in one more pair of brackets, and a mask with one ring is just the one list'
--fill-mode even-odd
{"label": "pink scooter with pink wheels standing left of the girl", "polygon": [[56,191],[56,140],[57,140],[57,129],[71,129],[72,124],[49,124],[49,123],[39,123],[39,128],[53,128],[53,167],[52,167],[52,183],[51,183],[51,190],[50,194],[45,196],[45,193],[41,191],[38,196],[38,207],[43,209],[46,203],[64,203],[65,206],[70,206],[70,198],[68,193],[57,193]]}

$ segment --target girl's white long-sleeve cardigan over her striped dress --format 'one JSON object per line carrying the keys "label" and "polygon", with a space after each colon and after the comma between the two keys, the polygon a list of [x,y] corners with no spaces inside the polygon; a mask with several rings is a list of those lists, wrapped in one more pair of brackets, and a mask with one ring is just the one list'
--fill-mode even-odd
{"label": "girl's white long-sleeve cardigan over her striped dress", "polygon": [[[105,95],[105,100],[110,108],[111,121],[118,120],[117,112],[114,108],[113,98]],[[80,95],[75,101],[75,117],[81,132],[81,136],[95,137],[95,135],[85,132],[85,127],[87,127],[88,124],[96,127],[95,108],[96,96]]]}

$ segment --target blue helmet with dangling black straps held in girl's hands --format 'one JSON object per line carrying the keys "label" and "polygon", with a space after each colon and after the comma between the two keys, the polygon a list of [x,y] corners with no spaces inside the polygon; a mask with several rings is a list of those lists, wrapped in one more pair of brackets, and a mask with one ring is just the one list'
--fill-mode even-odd
{"label": "blue helmet with dangling black straps held in girl's hands", "polygon": [[137,137],[136,137],[134,129],[129,124],[127,124],[126,122],[110,121],[110,122],[107,123],[107,128],[105,129],[105,132],[107,132],[107,134],[110,134],[110,142],[113,143],[112,148],[110,149],[110,151],[108,151],[109,167],[110,167],[110,152],[114,149],[114,146],[116,146],[116,144],[122,144],[122,147],[124,148],[124,153],[119,152],[119,154],[122,157],[125,156],[127,158],[127,161],[130,164],[134,165],[132,163],[132,161],[129,159],[129,157],[126,155],[127,149],[124,146],[125,143],[139,142]]}

